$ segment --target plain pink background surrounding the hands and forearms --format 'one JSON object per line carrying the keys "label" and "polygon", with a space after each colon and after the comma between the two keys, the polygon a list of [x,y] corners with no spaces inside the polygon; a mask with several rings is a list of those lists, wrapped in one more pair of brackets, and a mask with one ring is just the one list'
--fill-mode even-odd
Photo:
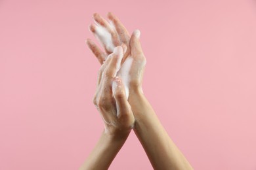
{"label": "plain pink background surrounding the hands and forearms", "polygon": [[[0,169],[78,169],[103,123],[92,15],[140,29],[144,93],[195,169],[256,169],[255,1],[0,1]],[[131,133],[110,169],[152,169]]]}

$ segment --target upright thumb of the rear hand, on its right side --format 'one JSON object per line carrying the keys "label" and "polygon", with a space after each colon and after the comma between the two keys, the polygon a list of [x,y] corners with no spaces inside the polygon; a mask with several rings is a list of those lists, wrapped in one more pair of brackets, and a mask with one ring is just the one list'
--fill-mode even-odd
{"label": "upright thumb of the rear hand, on its right side", "polygon": [[131,56],[137,57],[137,56],[144,56],[140,44],[140,30],[136,29],[133,31],[133,34],[131,35],[130,40],[130,48],[131,48]]}

